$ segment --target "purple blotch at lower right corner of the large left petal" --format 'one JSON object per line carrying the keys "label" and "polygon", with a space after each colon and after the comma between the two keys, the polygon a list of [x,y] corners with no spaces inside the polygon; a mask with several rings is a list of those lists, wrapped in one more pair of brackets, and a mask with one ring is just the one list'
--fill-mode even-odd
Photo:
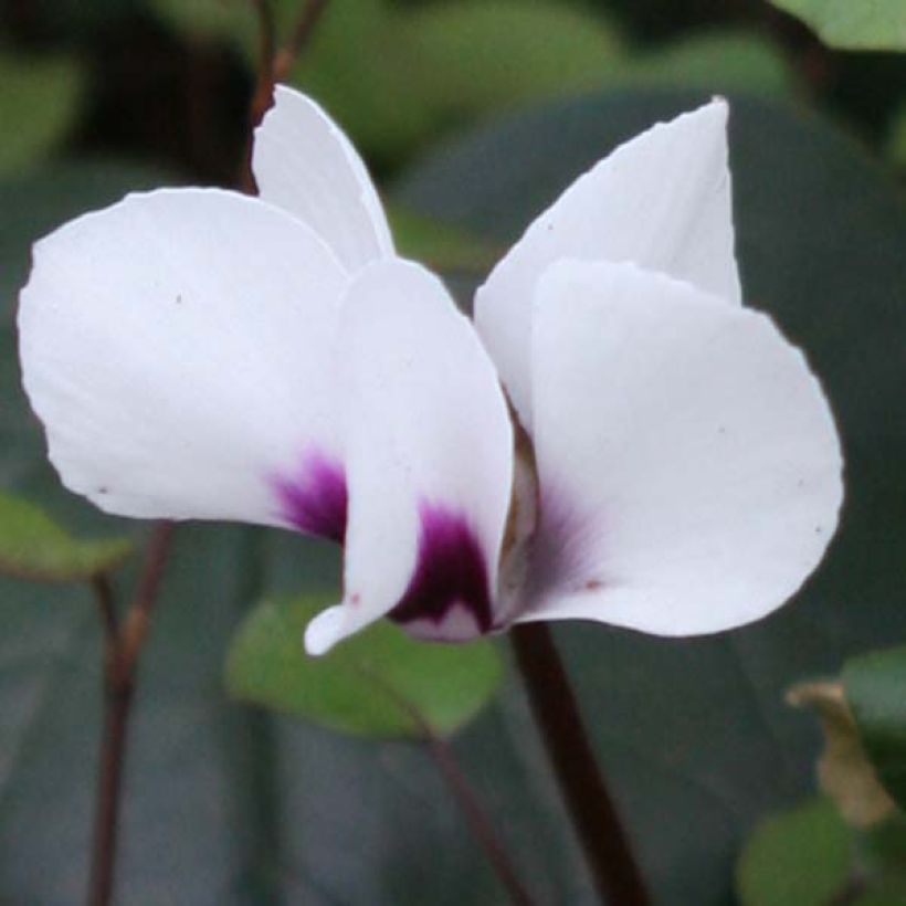
{"label": "purple blotch at lower right corner of the large left petal", "polygon": [[346,473],[339,462],[320,452],[309,452],[295,476],[275,478],[273,484],[287,522],[299,531],[343,544],[348,494]]}

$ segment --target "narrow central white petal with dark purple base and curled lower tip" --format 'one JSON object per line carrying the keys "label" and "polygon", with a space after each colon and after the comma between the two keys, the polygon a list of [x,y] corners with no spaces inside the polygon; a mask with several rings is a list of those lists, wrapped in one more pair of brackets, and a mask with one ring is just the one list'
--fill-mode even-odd
{"label": "narrow central white petal with dark purple base and curled lower tip", "polygon": [[494,366],[443,284],[402,261],[352,284],[340,327],[349,525],[345,594],[310,653],[388,614],[454,640],[492,628],[513,481]]}

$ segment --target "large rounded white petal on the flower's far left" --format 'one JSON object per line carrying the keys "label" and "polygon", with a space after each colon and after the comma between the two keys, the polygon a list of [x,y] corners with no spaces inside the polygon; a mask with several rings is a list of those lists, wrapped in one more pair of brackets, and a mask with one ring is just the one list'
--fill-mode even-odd
{"label": "large rounded white petal on the flower's far left", "polygon": [[20,351],[64,484],[124,516],[335,536],[346,283],[303,223],[218,190],[129,196],[42,240]]}

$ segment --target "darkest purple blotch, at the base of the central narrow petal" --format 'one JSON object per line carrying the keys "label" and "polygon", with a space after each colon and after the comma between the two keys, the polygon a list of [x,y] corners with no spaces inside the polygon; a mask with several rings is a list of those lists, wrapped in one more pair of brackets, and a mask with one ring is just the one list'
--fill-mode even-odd
{"label": "darkest purple blotch, at the base of the central narrow petal", "polygon": [[493,625],[487,563],[466,519],[446,507],[423,503],[415,571],[400,602],[388,614],[398,623],[443,623],[462,609],[478,633]]}

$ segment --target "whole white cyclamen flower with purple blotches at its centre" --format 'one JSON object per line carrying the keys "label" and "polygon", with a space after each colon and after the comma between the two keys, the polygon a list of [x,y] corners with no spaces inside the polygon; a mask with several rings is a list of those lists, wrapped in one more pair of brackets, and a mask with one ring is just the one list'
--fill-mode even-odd
{"label": "whole white cyclamen flower with purple blotches at its centre", "polygon": [[52,462],[109,513],[343,541],[313,653],[388,615],[445,641],[763,617],[821,559],[842,462],[803,356],[740,303],[726,119],[578,179],[473,327],[394,254],[338,127],[278,88],[260,198],[133,194],[36,244],[21,358]]}

